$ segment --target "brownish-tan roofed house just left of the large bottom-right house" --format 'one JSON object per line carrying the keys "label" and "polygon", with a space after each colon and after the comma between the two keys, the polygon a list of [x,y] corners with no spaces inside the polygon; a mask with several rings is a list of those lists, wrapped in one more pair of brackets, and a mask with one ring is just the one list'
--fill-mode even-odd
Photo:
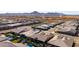
{"label": "brownish-tan roofed house just left of the large bottom-right house", "polygon": [[42,31],[42,32],[37,33],[32,36],[33,39],[36,39],[36,40],[39,40],[42,42],[47,42],[53,37],[54,37],[54,35],[50,32],[47,32],[47,31]]}

